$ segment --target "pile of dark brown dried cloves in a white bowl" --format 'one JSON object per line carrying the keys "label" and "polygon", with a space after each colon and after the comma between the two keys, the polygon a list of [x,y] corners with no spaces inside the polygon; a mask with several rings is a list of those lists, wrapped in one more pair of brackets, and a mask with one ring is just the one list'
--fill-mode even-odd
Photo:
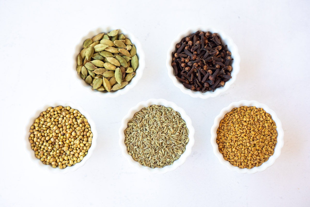
{"label": "pile of dark brown dried cloves in a white bowl", "polygon": [[175,77],[191,90],[214,91],[232,78],[231,52],[217,33],[197,31],[184,37],[172,56]]}

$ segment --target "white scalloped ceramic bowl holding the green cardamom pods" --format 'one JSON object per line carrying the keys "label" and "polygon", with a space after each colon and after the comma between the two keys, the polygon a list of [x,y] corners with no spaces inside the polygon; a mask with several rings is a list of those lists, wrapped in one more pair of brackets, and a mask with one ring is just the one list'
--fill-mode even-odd
{"label": "white scalloped ceramic bowl holding the green cardamom pods", "polygon": [[[114,30],[114,29],[120,29],[118,34],[124,34],[126,36],[126,38],[129,38],[131,40],[131,43],[133,43],[136,47],[137,56],[139,59],[138,68],[135,70],[136,74],[131,79],[131,81],[128,83],[128,85],[126,85],[124,88],[122,88],[120,90],[111,91],[111,92],[92,90],[91,85],[87,84],[85,82],[85,80],[83,80],[81,78],[81,76],[78,75],[78,73],[76,71],[78,54],[81,52],[83,43],[86,39],[93,38],[95,35],[100,34],[100,33],[107,34],[108,32],[110,32],[111,30]],[[120,96],[120,95],[128,92],[131,88],[133,88],[138,83],[139,79],[141,79],[144,67],[145,67],[145,55],[144,55],[144,51],[142,49],[141,43],[139,42],[139,40],[137,38],[135,38],[135,36],[133,34],[131,34],[125,28],[122,28],[122,27],[106,26],[106,27],[100,27],[100,28],[97,28],[97,29],[90,31],[88,34],[84,35],[81,38],[80,43],[78,43],[78,45],[75,47],[75,51],[74,51],[74,55],[73,55],[73,73],[79,82],[77,85],[82,86],[82,88],[86,89],[91,94],[96,94],[100,97],[117,97],[117,96]]]}

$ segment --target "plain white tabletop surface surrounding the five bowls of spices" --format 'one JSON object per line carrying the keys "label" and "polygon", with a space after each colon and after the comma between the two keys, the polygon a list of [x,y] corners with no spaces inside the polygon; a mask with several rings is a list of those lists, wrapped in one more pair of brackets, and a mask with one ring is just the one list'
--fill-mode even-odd
{"label": "plain white tabletop surface surrounding the five bowls of spices", "polygon": [[[310,3],[196,2],[1,1],[0,206],[310,206]],[[105,24],[131,31],[146,55],[135,88],[107,99],[82,90],[72,69],[80,38]],[[241,56],[236,82],[206,100],[181,93],[165,66],[171,40],[203,24],[231,36]],[[191,156],[164,175],[136,172],[118,146],[122,117],[149,98],[184,108],[196,130]],[[29,117],[58,99],[86,109],[99,134],[91,159],[65,175],[39,171],[23,155]],[[229,171],[210,144],[215,116],[242,99],[267,104],[285,135],[280,157],[253,175]]]}

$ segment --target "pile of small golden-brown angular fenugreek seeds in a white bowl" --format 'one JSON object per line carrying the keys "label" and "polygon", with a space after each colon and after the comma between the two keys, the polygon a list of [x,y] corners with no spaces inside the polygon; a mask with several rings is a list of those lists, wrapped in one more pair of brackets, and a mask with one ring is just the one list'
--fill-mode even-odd
{"label": "pile of small golden-brown angular fenugreek seeds in a white bowl", "polygon": [[225,160],[250,169],[273,155],[277,136],[276,124],[263,108],[241,106],[220,121],[216,142]]}

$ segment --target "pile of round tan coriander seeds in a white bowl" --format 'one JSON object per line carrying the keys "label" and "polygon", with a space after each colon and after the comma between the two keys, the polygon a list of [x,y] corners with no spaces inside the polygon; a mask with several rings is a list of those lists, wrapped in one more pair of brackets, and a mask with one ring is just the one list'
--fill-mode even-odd
{"label": "pile of round tan coriander seeds in a white bowl", "polygon": [[86,117],[70,106],[49,107],[34,121],[29,132],[36,157],[43,164],[60,169],[83,160],[93,137]]}

